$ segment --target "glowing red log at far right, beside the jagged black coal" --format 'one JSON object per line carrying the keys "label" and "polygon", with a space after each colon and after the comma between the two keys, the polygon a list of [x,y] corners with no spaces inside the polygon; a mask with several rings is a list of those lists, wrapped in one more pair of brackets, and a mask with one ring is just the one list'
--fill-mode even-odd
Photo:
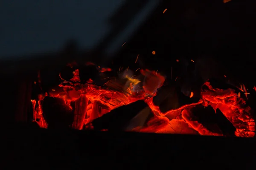
{"label": "glowing red log at far right, beside the jagged black coal", "polygon": [[214,89],[209,82],[204,85],[209,90],[201,92],[204,100],[203,105],[211,105],[215,110],[218,108],[236,127],[236,136],[253,137],[255,135],[255,121],[245,100],[239,97],[233,89]]}

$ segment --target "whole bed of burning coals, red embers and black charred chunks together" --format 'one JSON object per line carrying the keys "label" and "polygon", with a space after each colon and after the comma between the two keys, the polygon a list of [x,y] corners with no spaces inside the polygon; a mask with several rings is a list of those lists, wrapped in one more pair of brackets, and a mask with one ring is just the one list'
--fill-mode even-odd
{"label": "whole bed of burning coals, red embers and black charred chunks together", "polygon": [[[47,115],[58,112],[56,125],[63,121],[62,115],[69,115],[72,117],[69,126],[77,130],[111,130],[113,124],[112,129],[143,133],[239,137],[255,134],[253,113],[246,103],[247,92],[243,87],[221,89],[209,80],[201,86],[197,100],[192,100],[195,92],[191,92],[185,96],[189,102],[166,110],[156,102],[159,91],[166,85],[166,78],[157,71],[121,67],[113,71],[87,62],[84,68],[68,64],[59,77],[61,91],[52,88],[31,100],[33,120],[42,128],[48,127]],[[40,75],[38,78],[35,84],[40,86]],[[121,120],[110,119],[108,115],[122,115],[126,110],[134,113],[126,115],[125,123],[115,127],[115,122]],[[99,125],[102,122],[108,125]]]}

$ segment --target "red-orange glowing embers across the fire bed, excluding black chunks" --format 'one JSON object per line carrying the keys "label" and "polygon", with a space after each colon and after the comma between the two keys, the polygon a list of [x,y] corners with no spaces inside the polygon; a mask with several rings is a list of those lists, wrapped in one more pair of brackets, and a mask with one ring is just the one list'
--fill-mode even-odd
{"label": "red-orange glowing embers across the fire bed, excluding black chunks", "polygon": [[[138,57],[139,55],[137,59]],[[137,62],[137,59],[135,62]],[[191,61],[194,62],[193,60]],[[94,64],[88,62],[87,65]],[[110,68],[101,68],[99,66],[96,68],[100,74],[112,71]],[[71,79],[61,78],[63,81],[59,86],[63,88],[64,92],[57,93],[55,89],[52,89],[49,92],[49,96],[61,98],[64,105],[67,105],[65,109],[73,111],[72,128],[79,130],[93,129],[91,125],[93,120],[123,105],[144,100],[151,109],[153,116],[148,119],[143,127],[133,128],[132,131],[225,136],[220,126],[214,123],[208,123],[211,126],[206,125],[195,114],[196,108],[199,106],[211,106],[215,112],[219,109],[227,120],[231,122],[235,128],[234,135],[240,137],[253,137],[255,135],[255,122],[251,109],[242,99],[240,92],[236,93],[234,89],[221,90],[213,88],[209,82],[206,82],[202,86],[201,99],[198,102],[162,112],[160,107],[154,104],[153,97],[157,95],[157,89],[161,88],[165,82],[165,77],[157,73],[158,70],[154,72],[140,68],[136,70],[140,69],[140,77],[135,77],[135,75],[129,77],[127,74],[128,69],[125,69],[126,75],[120,79],[102,77],[105,83],[101,86],[96,85],[93,79],[88,79],[85,83],[81,83],[79,69],[74,69]],[[121,67],[119,71],[121,71]],[[134,90],[135,87],[142,90]],[[244,85],[240,91],[244,91],[242,93],[244,96],[248,94]],[[32,100],[33,120],[37,121],[40,127],[47,128],[41,108],[41,102],[44,103],[44,99],[47,98],[44,98],[44,96],[47,96],[47,94],[39,95],[38,100]],[[190,98],[193,96],[194,93],[191,92]]]}

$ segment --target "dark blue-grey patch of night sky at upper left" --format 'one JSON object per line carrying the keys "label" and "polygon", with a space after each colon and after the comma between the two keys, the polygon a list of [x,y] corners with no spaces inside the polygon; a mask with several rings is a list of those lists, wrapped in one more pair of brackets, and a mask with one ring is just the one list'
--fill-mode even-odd
{"label": "dark blue-grey patch of night sky at upper left", "polygon": [[92,48],[124,0],[1,0],[0,57],[56,51],[75,39]]}

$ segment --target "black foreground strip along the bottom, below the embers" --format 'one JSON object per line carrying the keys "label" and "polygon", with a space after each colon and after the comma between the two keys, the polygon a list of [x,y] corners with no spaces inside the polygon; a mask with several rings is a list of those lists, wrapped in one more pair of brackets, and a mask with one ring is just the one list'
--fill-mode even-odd
{"label": "black foreground strip along the bottom, below the embers", "polygon": [[11,169],[252,169],[255,139],[214,136],[10,130],[1,134]]}

